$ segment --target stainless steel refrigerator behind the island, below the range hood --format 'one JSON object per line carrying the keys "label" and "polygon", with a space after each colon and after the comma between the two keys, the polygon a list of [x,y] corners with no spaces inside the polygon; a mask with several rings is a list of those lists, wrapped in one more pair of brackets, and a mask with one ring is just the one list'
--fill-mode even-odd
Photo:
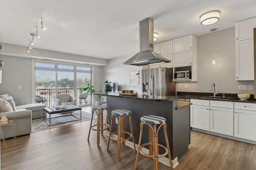
{"label": "stainless steel refrigerator behind the island, below the range hood", "polygon": [[175,96],[175,82],[172,82],[172,68],[149,68],[141,71],[142,94],[154,96]]}

